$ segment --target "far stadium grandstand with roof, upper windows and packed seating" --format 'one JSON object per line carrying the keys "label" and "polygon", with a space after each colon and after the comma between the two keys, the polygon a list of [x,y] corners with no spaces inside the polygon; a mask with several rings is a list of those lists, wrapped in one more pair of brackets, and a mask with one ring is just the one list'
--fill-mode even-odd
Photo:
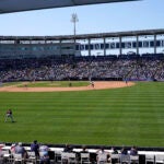
{"label": "far stadium grandstand with roof, upper windows and packed seating", "polygon": [[[68,79],[164,81],[164,55],[157,52],[164,47],[163,34],[164,30],[87,34],[77,35],[75,43],[74,36],[1,36],[1,82]],[[136,39],[121,42],[129,36]],[[141,36],[152,39],[143,40]],[[95,38],[97,42],[92,43]],[[148,51],[140,54],[142,48]],[[125,49],[132,49],[132,52],[122,54]],[[153,52],[149,54],[149,49]],[[113,50],[118,50],[118,54],[107,54]]]}

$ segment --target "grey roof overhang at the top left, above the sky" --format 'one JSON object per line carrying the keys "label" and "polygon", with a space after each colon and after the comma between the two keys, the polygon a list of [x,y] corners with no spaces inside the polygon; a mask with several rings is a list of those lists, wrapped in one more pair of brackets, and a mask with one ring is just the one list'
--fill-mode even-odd
{"label": "grey roof overhang at the top left, above the sky", "polygon": [[0,13],[137,0],[0,0]]}

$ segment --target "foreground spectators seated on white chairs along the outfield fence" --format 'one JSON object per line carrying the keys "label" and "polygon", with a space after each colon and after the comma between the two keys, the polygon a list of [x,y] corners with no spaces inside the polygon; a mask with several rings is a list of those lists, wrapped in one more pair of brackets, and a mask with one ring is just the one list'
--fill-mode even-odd
{"label": "foreground spectators seated on white chairs along the outfield fence", "polygon": [[[14,161],[14,154],[20,154],[22,163],[27,164],[31,159],[32,152],[34,152],[33,162],[32,163],[39,163],[39,164],[50,164],[58,163],[58,160],[60,160],[60,163],[71,163],[69,161],[69,154],[74,154],[74,162],[75,163],[97,163],[101,164],[101,162],[105,163],[118,163],[121,155],[132,155],[132,156],[139,156],[137,147],[130,148],[120,148],[116,149],[115,147],[105,149],[104,147],[91,149],[86,145],[78,145],[77,149],[74,145],[66,144],[63,148],[60,148],[60,151],[55,150],[54,148],[50,148],[47,144],[37,143],[35,140],[31,145],[24,145],[22,142],[13,143],[11,147],[5,147],[5,144],[0,144],[0,157],[3,161],[3,163],[15,163]],[[7,149],[8,149],[8,157],[7,156]],[[4,151],[5,150],[5,151]],[[52,153],[54,152],[54,153]],[[5,154],[5,155],[4,155]],[[55,154],[60,154],[55,155]],[[86,154],[84,159],[82,159],[83,154]],[[118,154],[119,159],[113,159],[113,154]],[[89,156],[87,156],[89,155]],[[56,157],[57,159],[56,159]],[[59,157],[59,159],[58,159]],[[73,156],[70,156],[73,159]],[[10,160],[9,160],[10,159]],[[13,161],[13,162],[12,162]],[[82,162],[83,161],[83,162]]]}

